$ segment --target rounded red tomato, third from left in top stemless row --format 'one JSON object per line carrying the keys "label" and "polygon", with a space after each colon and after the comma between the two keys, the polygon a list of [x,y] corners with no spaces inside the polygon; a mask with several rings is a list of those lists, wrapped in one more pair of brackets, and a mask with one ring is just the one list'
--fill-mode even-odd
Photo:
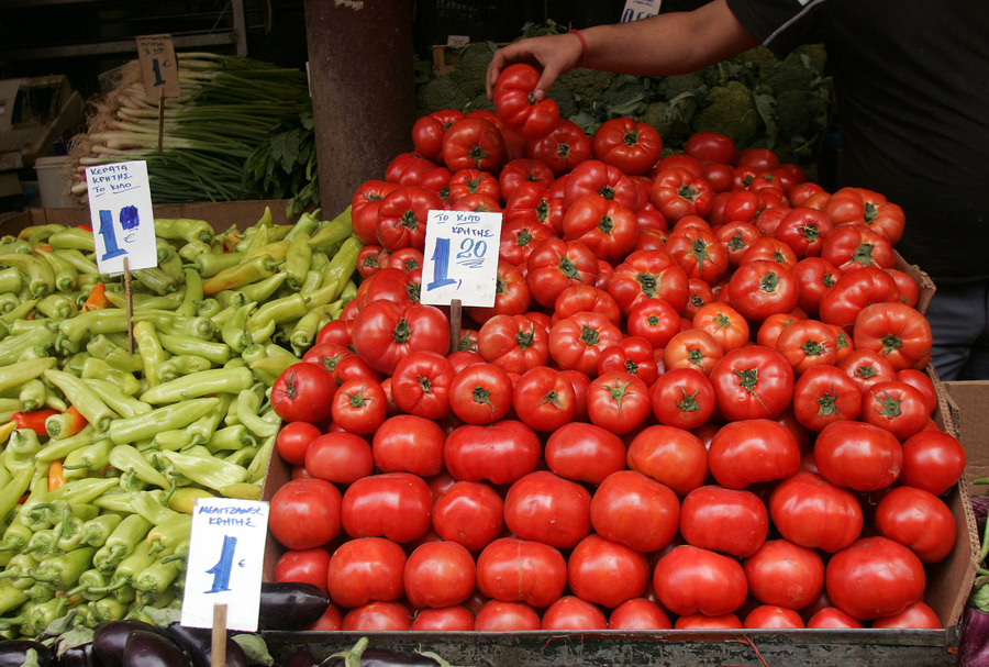
{"label": "rounded red tomato, third from left in top stemless row", "polygon": [[435,421],[396,414],[375,431],[371,453],[381,473],[411,473],[425,478],[443,470],[445,442],[446,435]]}

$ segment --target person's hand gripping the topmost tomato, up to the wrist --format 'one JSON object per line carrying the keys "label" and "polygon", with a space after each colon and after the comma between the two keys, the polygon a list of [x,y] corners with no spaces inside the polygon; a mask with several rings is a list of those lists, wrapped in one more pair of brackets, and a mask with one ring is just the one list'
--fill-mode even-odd
{"label": "person's hand gripping the topmost tomato, up to the wrist", "polygon": [[494,52],[494,57],[488,65],[488,76],[485,81],[488,98],[493,96],[494,84],[498,82],[498,75],[502,69],[513,63],[527,63],[540,70],[540,80],[532,95],[536,101],[542,100],[559,75],[576,67],[582,56],[581,40],[570,33],[513,42]]}

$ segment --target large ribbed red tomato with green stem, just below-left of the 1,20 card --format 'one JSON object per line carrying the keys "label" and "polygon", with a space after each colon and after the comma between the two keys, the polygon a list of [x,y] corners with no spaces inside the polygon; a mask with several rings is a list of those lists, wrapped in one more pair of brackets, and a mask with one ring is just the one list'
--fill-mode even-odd
{"label": "large ribbed red tomato with green stem, just below-left of the 1,20 card", "polygon": [[421,303],[402,307],[386,300],[371,301],[357,313],[353,335],[357,354],[387,374],[413,352],[445,356],[449,351],[446,315],[438,308]]}

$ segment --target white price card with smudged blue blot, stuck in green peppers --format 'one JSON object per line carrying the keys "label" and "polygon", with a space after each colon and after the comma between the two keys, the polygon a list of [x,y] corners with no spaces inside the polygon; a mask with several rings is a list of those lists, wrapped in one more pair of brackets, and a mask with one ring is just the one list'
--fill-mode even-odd
{"label": "white price card with smudged blue blot, stuck in green peppers", "polygon": [[86,168],[89,218],[101,274],[157,266],[155,214],[147,163],[134,160]]}

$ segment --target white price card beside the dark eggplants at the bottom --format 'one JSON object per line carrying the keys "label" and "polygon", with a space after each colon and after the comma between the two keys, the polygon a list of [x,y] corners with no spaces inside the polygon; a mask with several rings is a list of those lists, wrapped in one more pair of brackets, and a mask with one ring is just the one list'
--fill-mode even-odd
{"label": "white price card beside the dark eggplants at the bottom", "polygon": [[268,503],[204,498],[192,510],[182,594],[182,625],[212,627],[213,605],[226,604],[226,627],[255,632]]}

